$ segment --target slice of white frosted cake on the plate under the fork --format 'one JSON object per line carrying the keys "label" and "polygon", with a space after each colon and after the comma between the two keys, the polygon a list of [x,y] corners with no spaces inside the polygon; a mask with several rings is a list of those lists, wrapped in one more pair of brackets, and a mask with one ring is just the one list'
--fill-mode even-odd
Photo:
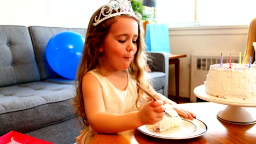
{"label": "slice of white frosted cake on the plate under the fork", "polygon": [[164,115],[160,122],[152,125],[146,125],[147,129],[150,131],[161,132],[181,126],[182,119],[179,117],[178,113],[172,109],[171,105],[166,104],[166,111],[171,115],[171,117]]}

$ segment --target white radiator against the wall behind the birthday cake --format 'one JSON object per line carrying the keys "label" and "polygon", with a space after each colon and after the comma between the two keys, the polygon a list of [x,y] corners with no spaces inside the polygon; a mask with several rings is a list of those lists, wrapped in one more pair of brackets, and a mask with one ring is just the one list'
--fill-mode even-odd
{"label": "white radiator against the wall behind the birthday cake", "polygon": [[[229,63],[229,53],[223,53],[223,63]],[[242,59],[242,58],[241,58]],[[239,63],[239,55],[232,55],[231,62]],[[218,54],[203,54],[193,53],[191,55],[191,79],[190,79],[190,101],[196,102],[194,88],[203,85],[206,80],[206,75],[210,69],[210,65],[220,63],[220,53]]]}

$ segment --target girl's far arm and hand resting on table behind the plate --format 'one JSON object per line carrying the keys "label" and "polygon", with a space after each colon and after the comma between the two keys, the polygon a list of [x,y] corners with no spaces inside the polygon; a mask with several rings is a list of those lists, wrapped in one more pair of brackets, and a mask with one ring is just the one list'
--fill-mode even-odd
{"label": "girl's far arm and hand resting on table behind the plate", "polygon": [[177,103],[175,103],[174,101],[166,98],[164,95],[160,94],[160,93],[157,93],[152,86],[149,86],[149,93],[153,94],[154,97],[156,99],[159,99],[159,100],[162,100],[164,101],[164,104],[165,103],[169,103],[172,105],[173,109],[177,111],[177,113],[179,115],[182,115],[183,117],[185,118],[189,118],[189,119],[193,119],[193,118],[196,118],[196,116],[194,115],[194,113],[190,112],[190,111],[186,111],[186,110],[183,110],[181,109],[181,107],[179,107],[179,105]]}

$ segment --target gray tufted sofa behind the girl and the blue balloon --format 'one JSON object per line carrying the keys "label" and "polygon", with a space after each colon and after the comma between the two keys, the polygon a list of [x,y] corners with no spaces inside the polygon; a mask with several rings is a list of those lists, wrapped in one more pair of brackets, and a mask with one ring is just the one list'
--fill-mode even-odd
{"label": "gray tufted sofa behind the girl and the blue balloon", "polygon": [[[54,143],[74,143],[79,124],[72,106],[74,81],[56,74],[45,59],[53,35],[83,28],[0,26],[0,136],[11,130]],[[153,87],[167,97],[168,54],[150,52]]]}

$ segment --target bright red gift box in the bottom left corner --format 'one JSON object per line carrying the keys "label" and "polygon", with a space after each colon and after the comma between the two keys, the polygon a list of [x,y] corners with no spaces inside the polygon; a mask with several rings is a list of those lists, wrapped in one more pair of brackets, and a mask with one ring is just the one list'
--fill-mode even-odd
{"label": "bright red gift box in the bottom left corner", "polygon": [[32,136],[25,135],[18,133],[17,131],[10,131],[9,133],[3,135],[0,137],[0,143],[4,144],[32,144],[32,143],[37,143],[37,144],[53,144],[52,142],[36,139]]}

